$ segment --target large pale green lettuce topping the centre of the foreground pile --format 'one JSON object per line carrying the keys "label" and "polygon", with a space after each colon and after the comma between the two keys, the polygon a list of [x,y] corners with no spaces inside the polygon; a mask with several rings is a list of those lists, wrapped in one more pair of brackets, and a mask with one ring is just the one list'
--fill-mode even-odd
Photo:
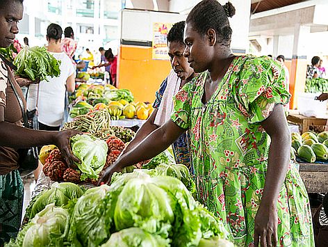
{"label": "large pale green lettuce topping the centre of the foreground pile", "polygon": [[114,222],[116,230],[133,226],[168,237],[174,222],[176,200],[154,184],[153,178],[129,180],[117,198]]}

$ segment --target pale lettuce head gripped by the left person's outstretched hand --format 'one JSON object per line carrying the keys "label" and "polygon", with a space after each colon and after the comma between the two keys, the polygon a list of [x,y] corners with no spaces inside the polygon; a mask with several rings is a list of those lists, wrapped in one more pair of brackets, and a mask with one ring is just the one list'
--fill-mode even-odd
{"label": "pale lettuce head gripped by the left person's outstretched hand", "polygon": [[81,160],[81,163],[76,163],[82,172],[81,180],[88,177],[97,179],[106,164],[106,142],[90,135],[78,134],[71,137],[71,146],[73,154]]}

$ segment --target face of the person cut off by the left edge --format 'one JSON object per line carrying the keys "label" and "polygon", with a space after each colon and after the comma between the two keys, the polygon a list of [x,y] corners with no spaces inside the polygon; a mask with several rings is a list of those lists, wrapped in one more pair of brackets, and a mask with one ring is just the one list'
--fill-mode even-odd
{"label": "face of the person cut off by the left edge", "polygon": [[18,22],[23,18],[23,4],[20,1],[8,1],[0,9],[0,47],[9,47],[18,33]]}

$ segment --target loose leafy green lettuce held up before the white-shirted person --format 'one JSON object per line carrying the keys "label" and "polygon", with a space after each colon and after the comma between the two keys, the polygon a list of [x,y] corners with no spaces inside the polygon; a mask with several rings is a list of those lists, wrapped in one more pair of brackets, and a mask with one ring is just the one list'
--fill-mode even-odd
{"label": "loose leafy green lettuce held up before the white-shirted person", "polygon": [[49,81],[47,77],[58,77],[60,74],[60,61],[45,47],[25,46],[17,54],[14,64],[17,66],[15,74],[32,81]]}

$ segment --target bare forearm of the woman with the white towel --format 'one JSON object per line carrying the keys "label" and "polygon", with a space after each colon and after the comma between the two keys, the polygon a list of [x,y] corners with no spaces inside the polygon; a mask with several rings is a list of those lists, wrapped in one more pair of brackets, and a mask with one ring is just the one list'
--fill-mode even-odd
{"label": "bare forearm of the woman with the white towel", "polygon": [[147,121],[140,127],[140,129],[138,129],[136,136],[134,136],[129,145],[127,145],[126,148],[123,150],[122,155],[135,148],[136,145],[138,145],[143,139],[145,139],[149,134],[151,134],[151,132],[154,132],[154,130],[158,129],[159,126],[154,124],[156,114],[157,109],[154,109],[153,113],[151,113]]}

